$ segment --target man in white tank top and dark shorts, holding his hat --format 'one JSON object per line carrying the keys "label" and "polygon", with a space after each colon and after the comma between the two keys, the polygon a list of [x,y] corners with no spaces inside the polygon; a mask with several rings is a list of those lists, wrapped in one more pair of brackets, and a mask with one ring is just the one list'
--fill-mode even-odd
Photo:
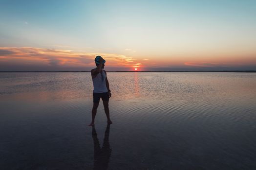
{"label": "man in white tank top and dark shorts, holding his hat", "polygon": [[103,69],[106,60],[101,56],[96,56],[94,59],[97,68],[91,70],[91,78],[93,83],[93,107],[91,111],[91,123],[89,126],[94,125],[94,119],[97,113],[97,108],[99,106],[100,99],[103,101],[104,110],[107,116],[107,123],[112,124],[109,117],[108,101],[111,97],[111,91],[109,89],[109,83],[107,80],[107,72]]}

